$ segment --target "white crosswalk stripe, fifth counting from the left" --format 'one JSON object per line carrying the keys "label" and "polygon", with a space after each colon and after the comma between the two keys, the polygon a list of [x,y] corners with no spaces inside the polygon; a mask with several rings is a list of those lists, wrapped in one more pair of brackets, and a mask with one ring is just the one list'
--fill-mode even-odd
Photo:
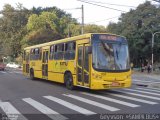
{"label": "white crosswalk stripe, fifth counting from the left", "polygon": [[121,100],[117,100],[117,99],[113,99],[113,98],[109,98],[109,97],[104,97],[104,96],[101,96],[101,95],[89,94],[89,93],[84,93],[84,92],[82,94],[89,95],[89,96],[96,97],[96,98],[100,98],[100,99],[107,100],[107,101],[110,101],[110,102],[118,103],[118,104],[125,105],[125,106],[128,106],[128,107],[133,107],[134,108],[134,107],[139,107],[140,106],[140,105],[132,104],[132,103],[125,102],[125,101],[121,101]]}

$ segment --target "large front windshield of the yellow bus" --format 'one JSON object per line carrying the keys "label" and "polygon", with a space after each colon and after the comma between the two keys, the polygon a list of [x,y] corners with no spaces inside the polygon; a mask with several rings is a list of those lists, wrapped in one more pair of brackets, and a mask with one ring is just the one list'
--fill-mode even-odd
{"label": "large front windshield of the yellow bus", "polygon": [[93,67],[99,70],[128,70],[127,43],[102,41],[93,44]]}

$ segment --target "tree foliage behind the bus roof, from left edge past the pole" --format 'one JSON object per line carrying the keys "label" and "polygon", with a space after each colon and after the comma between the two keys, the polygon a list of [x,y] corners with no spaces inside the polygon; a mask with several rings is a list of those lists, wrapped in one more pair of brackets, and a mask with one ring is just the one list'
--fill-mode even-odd
{"label": "tree foliage behind the bus roof, from left edge past the pole", "polygon": [[[98,25],[85,25],[85,33],[105,32]],[[0,17],[0,53],[16,58],[26,46],[81,34],[81,25],[70,14],[57,7],[28,10],[21,4],[6,4]]]}

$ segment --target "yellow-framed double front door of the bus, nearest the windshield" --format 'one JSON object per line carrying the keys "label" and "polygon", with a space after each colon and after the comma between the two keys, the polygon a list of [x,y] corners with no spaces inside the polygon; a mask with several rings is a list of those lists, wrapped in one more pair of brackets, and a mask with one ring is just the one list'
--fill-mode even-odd
{"label": "yellow-framed double front door of the bus, nearest the windshield", "polygon": [[89,44],[78,45],[77,83],[78,86],[89,87]]}

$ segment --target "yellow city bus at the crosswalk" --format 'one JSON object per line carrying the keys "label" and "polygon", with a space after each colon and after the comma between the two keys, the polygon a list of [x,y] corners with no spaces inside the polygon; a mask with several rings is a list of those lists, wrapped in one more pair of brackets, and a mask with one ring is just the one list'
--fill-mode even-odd
{"label": "yellow city bus at the crosswalk", "polygon": [[131,86],[125,37],[90,33],[24,48],[23,74],[30,79],[94,90]]}

